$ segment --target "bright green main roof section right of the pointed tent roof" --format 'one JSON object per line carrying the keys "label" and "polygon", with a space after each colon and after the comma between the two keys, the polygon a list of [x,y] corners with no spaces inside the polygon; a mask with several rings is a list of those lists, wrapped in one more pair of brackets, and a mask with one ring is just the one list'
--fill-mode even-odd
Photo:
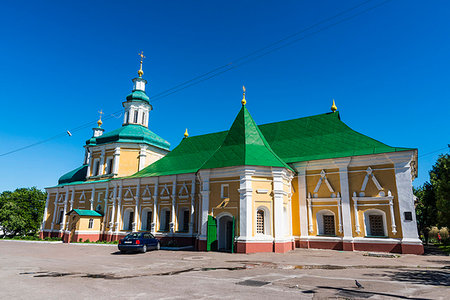
{"label": "bright green main roof section right of the pointed tent roof", "polygon": [[348,127],[339,112],[259,126],[286,163],[412,150],[390,147]]}

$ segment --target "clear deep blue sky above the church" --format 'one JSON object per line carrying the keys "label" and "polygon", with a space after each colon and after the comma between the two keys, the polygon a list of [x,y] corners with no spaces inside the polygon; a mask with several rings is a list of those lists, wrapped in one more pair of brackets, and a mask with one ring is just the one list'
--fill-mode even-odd
{"label": "clear deep blue sky above the church", "polygon": [[[98,111],[121,110],[131,91],[139,51],[151,97],[361,2],[3,2],[0,154],[92,126],[0,157],[0,191],[52,186],[81,165]],[[153,102],[150,129],[172,147],[186,127],[191,135],[226,130],[243,83],[259,124],[328,112],[334,98],[353,129],[419,149],[420,185],[448,150],[421,155],[450,143],[449,20],[448,1],[390,1]]]}

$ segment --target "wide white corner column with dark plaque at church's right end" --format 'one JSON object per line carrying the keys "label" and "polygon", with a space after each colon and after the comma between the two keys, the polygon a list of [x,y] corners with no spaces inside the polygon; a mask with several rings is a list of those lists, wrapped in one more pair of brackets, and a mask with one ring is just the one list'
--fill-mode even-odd
{"label": "wide white corner column with dark plaque at church's right end", "polygon": [[[400,208],[402,225],[402,243],[421,244],[417,232],[410,162],[411,158],[408,160],[396,161],[394,164],[395,183],[397,185],[398,205]],[[412,221],[405,220],[405,212],[411,212]]]}

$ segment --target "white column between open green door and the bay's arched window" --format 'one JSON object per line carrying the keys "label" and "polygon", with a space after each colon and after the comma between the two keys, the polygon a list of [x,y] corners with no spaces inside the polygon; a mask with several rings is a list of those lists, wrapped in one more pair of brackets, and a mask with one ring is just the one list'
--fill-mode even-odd
{"label": "white column between open green door and the bay's arched window", "polygon": [[253,169],[245,169],[240,176],[238,241],[249,240],[253,235],[252,175],[254,173]]}

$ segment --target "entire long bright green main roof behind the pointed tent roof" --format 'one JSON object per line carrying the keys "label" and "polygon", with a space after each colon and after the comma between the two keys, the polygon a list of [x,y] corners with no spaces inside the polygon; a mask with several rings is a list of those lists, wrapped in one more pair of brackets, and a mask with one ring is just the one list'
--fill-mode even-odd
{"label": "entire long bright green main roof behind the pointed tent roof", "polygon": [[[241,132],[244,124],[251,127],[251,124],[246,124],[246,122],[251,122],[245,121],[248,119],[245,116],[245,111],[246,109],[242,108],[239,112],[238,118],[241,118],[241,114],[242,118],[240,124],[235,125],[233,123],[231,127],[233,131],[235,130],[233,127],[236,126],[237,129],[238,125],[241,127]],[[245,135],[239,136],[232,133],[229,141],[225,142],[229,136],[227,131],[188,137],[183,139],[165,157],[131,177],[194,173],[202,168],[218,168],[236,165],[236,163],[244,165],[244,161],[247,163],[258,160],[255,157],[248,157],[248,160],[247,157],[242,157],[250,149],[257,152],[263,151],[264,158],[270,159],[271,162],[266,165],[278,163],[277,157],[285,163],[293,163],[413,150],[412,148],[390,147],[354,131],[340,120],[338,112],[269,123],[257,127],[259,127],[259,132],[256,129],[252,130],[252,136],[256,138],[255,141],[257,142],[255,148],[250,146],[251,137],[247,140]],[[230,131],[232,131],[231,129]],[[237,146],[237,140],[240,140],[240,146]],[[266,143],[268,146],[266,146]],[[267,150],[261,150],[263,147]],[[271,151],[275,155],[270,155]],[[232,155],[232,163],[226,161],[227,155]],[[239,155],[241,156],[238,157]]]}

